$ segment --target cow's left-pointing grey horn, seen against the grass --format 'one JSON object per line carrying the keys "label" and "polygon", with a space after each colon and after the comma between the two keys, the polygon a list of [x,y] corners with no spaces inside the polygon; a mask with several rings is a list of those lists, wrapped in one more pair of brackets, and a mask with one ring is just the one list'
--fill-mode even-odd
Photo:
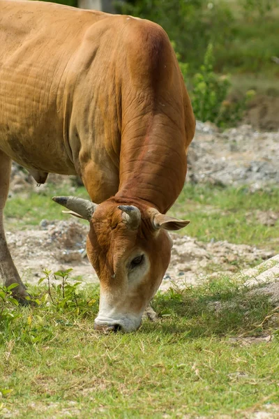
{"label": "cow's left-pointing grey horn, seen against the grass", "polygon": [[76,212],[83,219],[90,221],[93,212],[98,207],[97,204],[91,203],[89,200],[77,198],[75,196],[54,196],[52,198],[57,204],[63,205],[68,210]]}

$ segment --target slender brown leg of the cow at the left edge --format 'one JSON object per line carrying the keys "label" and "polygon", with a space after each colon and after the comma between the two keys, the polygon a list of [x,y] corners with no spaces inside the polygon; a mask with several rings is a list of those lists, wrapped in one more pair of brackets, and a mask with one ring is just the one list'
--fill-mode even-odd
{"label": "slender brown leg of the cow at the left edge", "polygon": [[27,301],[25,300],[25,297],[28,296],[28,293],[20,279],[13,259],[10,256],[3,228],[3,208],[5,207],[6,199],[8,197],[10,167],[10,158],[0,151],[0,274],[3,278],[4,286],[8,287],[11,284],[17,284],[17,287],[13,288],[13,295],[15,295],[20,302],[24,303]]}

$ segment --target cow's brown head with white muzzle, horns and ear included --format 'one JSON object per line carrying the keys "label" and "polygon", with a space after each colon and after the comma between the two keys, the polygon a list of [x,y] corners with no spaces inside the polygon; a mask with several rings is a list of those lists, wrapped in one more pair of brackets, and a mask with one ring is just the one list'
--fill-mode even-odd
{"label": "cow's brown head with white muzzle, horns and ear included", "polygon": [[86,251],[100,279],[94,327],[137,330],[169,265],[172,240],[167,230],[179,230],[189,221],[160,214],[140,201],[128,205],[110,198],[96,205],[74,197],[53,199],[90,223]]}

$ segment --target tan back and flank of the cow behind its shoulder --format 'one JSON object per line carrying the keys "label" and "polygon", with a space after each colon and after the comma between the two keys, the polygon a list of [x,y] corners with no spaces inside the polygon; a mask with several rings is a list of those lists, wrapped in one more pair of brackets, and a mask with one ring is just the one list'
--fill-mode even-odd
{"label": "tan back and flank of the cow behind its shoulder", "polygon": [[109,16],[0,0],[0,149],[23,166],[75,172],[68,146],[73,61],[89,27]]}

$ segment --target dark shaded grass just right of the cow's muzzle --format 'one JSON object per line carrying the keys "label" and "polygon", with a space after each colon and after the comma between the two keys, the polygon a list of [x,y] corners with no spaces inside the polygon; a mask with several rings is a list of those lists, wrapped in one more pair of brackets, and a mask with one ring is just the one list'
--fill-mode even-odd
{"label": "dark shaded grass just right of the cow's muzzle", "polygon": [[[260,289],[260,288],[259,288]],[[153,308],[161,318],[158,325],[165,334],[187,337],[262,334],[273,306],[267,295],[250,293],[243,284],[230,279],[213,279],[202,286],[169,289],[158,293]]]}

